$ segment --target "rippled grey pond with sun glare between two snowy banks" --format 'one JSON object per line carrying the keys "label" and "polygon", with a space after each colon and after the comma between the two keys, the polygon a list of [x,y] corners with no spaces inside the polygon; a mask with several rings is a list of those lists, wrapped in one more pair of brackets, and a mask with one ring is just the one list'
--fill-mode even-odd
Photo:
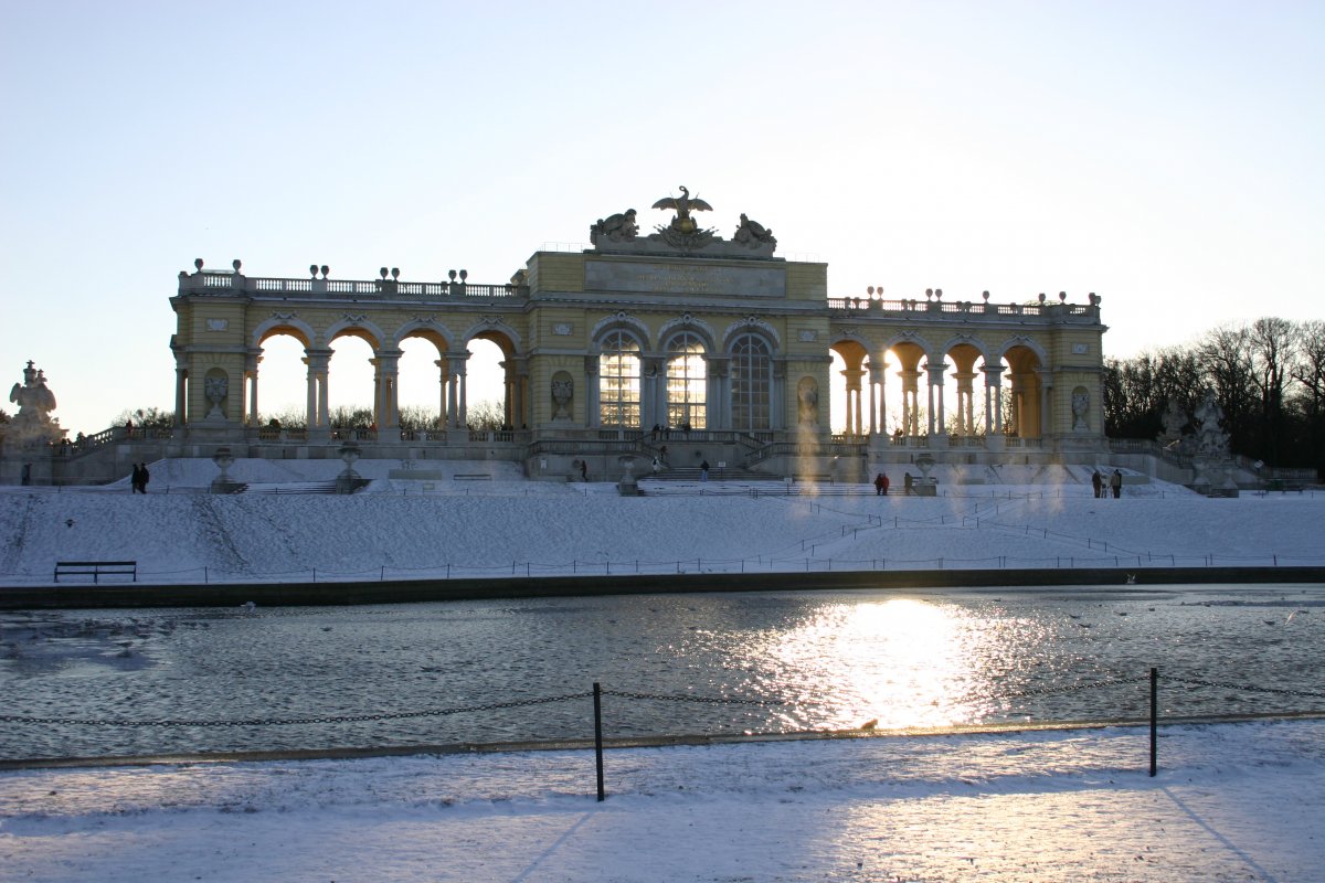
{"label": "rippled grey pond with sun glare between two snowy banks", "polygon": [[[7,715],[225,721],[470,708],[604,690],[608,737],[1295,711],[1325,586],[670,594],[0,614]],[[1116,686],[1101,682],[1128,680]],[[1080,688],[1079,688],[1080,687]],[[584,739],[587,698],[351,723],[5,723],[0,757]]]}

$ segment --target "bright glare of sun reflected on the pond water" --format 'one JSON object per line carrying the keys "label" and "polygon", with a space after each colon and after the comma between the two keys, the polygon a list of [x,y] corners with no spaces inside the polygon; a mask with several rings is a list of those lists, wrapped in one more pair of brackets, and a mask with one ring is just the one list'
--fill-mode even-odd
{"label": "bright glare of sun reflected on the pond water", "polygon": [[[912,598],[832,604],[770,634],[778,694],[798,708],[784,724],[880,729],[974,723],[988,711],[991,631],[1012,624]],[[766,684],[772,686],[772,684]]]}

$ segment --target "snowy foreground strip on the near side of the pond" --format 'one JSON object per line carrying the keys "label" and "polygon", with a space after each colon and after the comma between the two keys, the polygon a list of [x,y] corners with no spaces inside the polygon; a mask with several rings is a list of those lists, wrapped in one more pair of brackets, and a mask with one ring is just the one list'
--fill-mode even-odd
{"label": "snowy foreground strip on the near side of the pond", "polygon": [[0,773],[0,878],[1267,880],[1325,874],[1325,721]]}

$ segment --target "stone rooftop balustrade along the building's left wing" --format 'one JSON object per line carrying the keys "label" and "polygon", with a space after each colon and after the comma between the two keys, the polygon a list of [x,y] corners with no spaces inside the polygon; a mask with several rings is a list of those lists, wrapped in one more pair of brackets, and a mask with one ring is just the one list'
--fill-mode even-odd
{"label": "stone rooftop balustrade along the building's left wing", "polygon": [[477,285],[469,282],[400,282],[394,278],[352,281],[311,277],[306,279],[246,277],[233,271],[197,270],[179,274],[180,294],[250,298],[307,298],[383,301],[476,301],[522,299],[529,297],[523,285]]}

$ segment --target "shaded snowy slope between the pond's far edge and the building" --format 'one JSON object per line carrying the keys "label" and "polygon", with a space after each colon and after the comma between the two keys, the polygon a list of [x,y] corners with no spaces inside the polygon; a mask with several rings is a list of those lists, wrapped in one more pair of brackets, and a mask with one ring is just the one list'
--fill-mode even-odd
{"label": "shaded snowy slope between the pond's far edge and the building", "polygon": [[[292,491],[341,467],[240,461],[231,471]],[[1206,499],[1155,482],[1094,499],[1084,475],[1037,470],[1026,478],[1057,482],[941,482],[941,496],[878,498],[868,486],[786,496],[772,482],[645,481],[647,495],[629,498],[610,482],[525,481],[509,463],[387,478],[399,467],[360,461],[374,482],[352,496],[205,494],[217,474],[205,459],[154,463],[146,496],[127,479],[4,488],[0,585],[49,582],[57,560],[136,560],[147,582],[1325,564],[1325,494],[1310,491]],[[477,474],[488,478],[468,478]]]}

